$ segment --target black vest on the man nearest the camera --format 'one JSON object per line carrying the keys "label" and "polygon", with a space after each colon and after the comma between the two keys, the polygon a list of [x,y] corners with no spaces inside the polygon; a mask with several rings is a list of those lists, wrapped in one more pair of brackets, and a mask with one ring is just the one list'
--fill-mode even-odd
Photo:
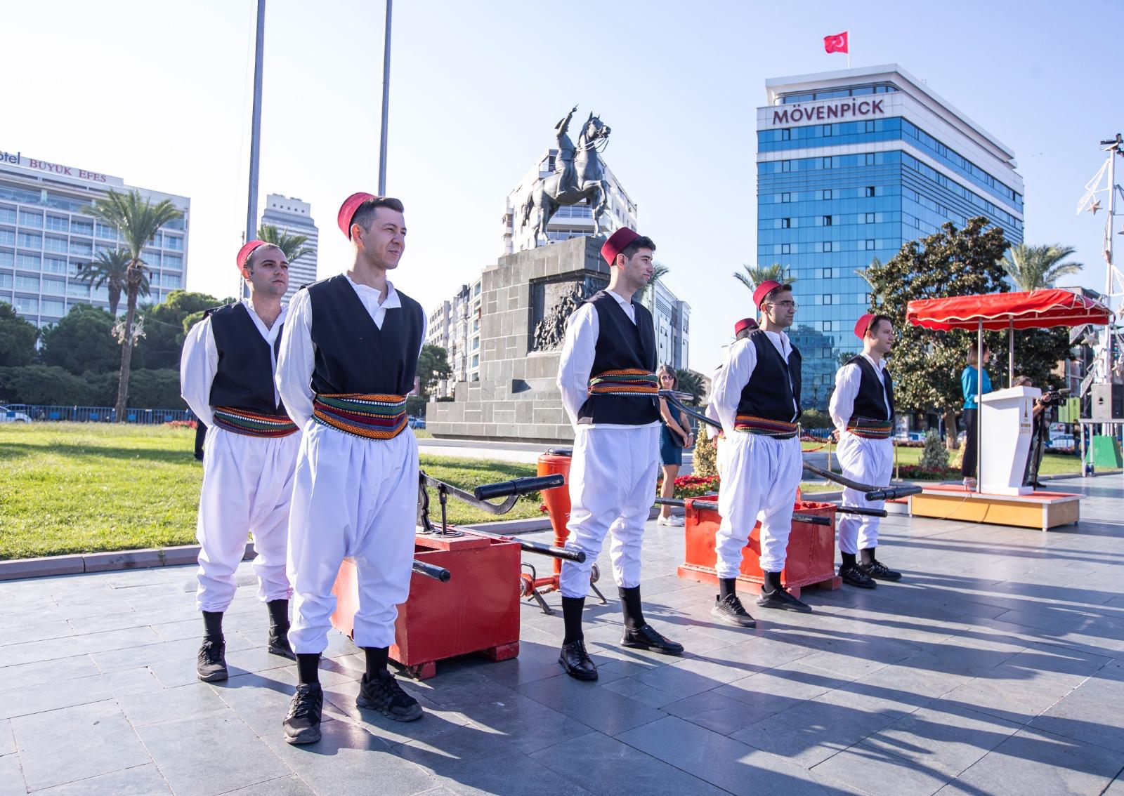
{"label": "black vest on the man nearest the camera", "polygon": [[422,349],[422,305],[398,291],[400,308],[387,310],[380,329],[343,274],[308,286],[312,309],[316,394],[406,395]]}

